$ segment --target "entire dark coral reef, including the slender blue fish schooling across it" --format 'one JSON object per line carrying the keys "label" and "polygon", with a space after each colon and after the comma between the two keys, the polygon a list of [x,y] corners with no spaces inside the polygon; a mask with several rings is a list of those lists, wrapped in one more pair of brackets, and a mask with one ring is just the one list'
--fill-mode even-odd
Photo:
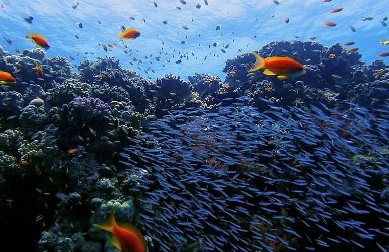
{"label": "entire dark coral reef, including the slender blue fish schooling across it", "polygon": [[149,251],[387,249],[389,66],[338,44],[258,53],[291,56],[307,73],[248,74],[244,54],[226,62],[224,82],[152,81],[114,58],[72,73],[42,49],[0,51],[0,70],[17,79],[0,85],[4,239],[112,250],[91,223],[114,206],[151,237]]}

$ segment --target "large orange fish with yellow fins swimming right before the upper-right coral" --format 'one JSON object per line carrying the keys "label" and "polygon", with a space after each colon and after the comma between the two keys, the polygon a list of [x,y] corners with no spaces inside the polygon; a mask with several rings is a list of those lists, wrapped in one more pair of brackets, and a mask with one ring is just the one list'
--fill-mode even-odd
{"label": "large orange fish with yellow fins swimming right before the upper-right coral", "polygon": [[289,77],[296,77],[306,73],[305,67],[296,60],[289,57],[269,57],[264,59],[255,52],[250,52],[255,56],[255,66],[247,72],[255,72],[265,69],[263,74],[276,75],[278,79],[285,80]]}

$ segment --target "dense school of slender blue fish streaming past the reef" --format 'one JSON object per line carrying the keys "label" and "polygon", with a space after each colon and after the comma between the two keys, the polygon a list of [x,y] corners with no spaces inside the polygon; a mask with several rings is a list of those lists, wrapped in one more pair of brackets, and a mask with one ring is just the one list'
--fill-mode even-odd
{"label": "dense school of slender blue fish streaming past the reef", "polygon": [[389,104],[259,113],[243,101],[172,111],[121,153],[155,246],[387,249]]}

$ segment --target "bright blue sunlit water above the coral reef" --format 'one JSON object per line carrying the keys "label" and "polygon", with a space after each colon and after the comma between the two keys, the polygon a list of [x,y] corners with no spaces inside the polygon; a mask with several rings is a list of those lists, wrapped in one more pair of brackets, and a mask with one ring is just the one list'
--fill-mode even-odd
{"label": "bright blue sunlit water above the coral reef", "polygon": [[[142,76],[153,79],[167,73],[184,78],[196,72],[223,76],[221,69],[226,59],[256,50],[275,40],[308,40],[316,37],[324,45],[355,41],[354,46],[360,48],[362,60],[366,63],[377,59],[378,53],[389,51],[389,45],[385,48],[379,44],[380,40],[389,39],[389,27],[380,23],[384,16],[389,16],[389,1],[332,0],[322,3],[321,0],[279,0],[280,4],[276,5],[272,0],[208,0],[207,6],[203,0],[187,0],[186,5],[179,0],[156,0],[158,7],[149,0],[79,2],[76,9],[72,6],[77,1],[0,2],[4,5],[4,8],[0,8],[0,36],[13,41],[9,45],[2,38],[0,44],[12,52],[15,47],[19,50],[33,48],[31,40],[23,39],[31,30],[47,37],[51,45],[49,56],[73,56],[75,63],[84,56],[90,60],[99,56],[113,56],[120,59],[123,67],[134,68]],[[197,4],[202,7],[197,9]],[[182,9],[178,10],[175,6]],[[329,12],[337,7],[344,10],[330,15]],[[30,15],[34,17],[32,24],[22,18]],[[131,20],[130,16],[135,20]],[[374,19],[362,21],[362,17]],[[290,22],[286,24],[284,18],[289,18]],[[162,23],[164,20],[168,21],[166,25]],[[329,21],[336,22],[337,26],[323,25]],[[83,28],[78,28],[77,22],[81,22]],[[128,48],[133,47],[132,53],[125,54],[125,48],[118,43],[116,34],[120,33],[118,26],[121,25],[127,29],[136,28],[142,33],[136,40],[125,42]],[[189,29],[184,30],[183,25]],[[216,30],[217,25],[222,25],[220,30]],[[350,30],[351,25],[355,27],[355,33]],[[74,35],[78,35],[79,39]],[[188,43],[181,44],[183,40]],[[98,45],[102,42],[116,43],[117,48],[105,52]],[[217,47],[212,46],[214,42],[218,43]],[[220,48],[226,44],[230,46],[223,53]],[[242,52],[238,52],[240,48]],[[94,55],[85,55],[85,52],[93,52]],[[159,52],[162,53],[160,61],[152,57],[150,64],[149,59],[144,59],[146,55],[159,55]],[[76,56],[78,53],[79,56]],[[185,58],[182,64],[176,64],[179,53],[188,53],[189,60]],[[204,60],[206,55],[208,57]],[[132,56],[142,60],[139,65],[141,70],[137,69],[137,62],[132,61]],[[170,64],[167,59],[170,59]],[[384,60],[389,62],[388,59]],[[134,66],[129,65],[130,61],[134,62]],[[149,66],[155,70],[154,74],[144,72]]]}

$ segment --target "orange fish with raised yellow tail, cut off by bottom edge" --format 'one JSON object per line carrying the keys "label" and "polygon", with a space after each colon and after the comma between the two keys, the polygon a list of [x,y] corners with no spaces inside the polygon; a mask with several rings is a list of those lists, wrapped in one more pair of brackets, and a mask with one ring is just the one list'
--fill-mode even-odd
{"label": "orange fish with raised yellow tail, cut off by bottom edge", "polygon": [[128,223],[116,223],[115,211],[112,208],[110,218],[102,224],[93,224],[94,226],[106,230],[113,234],[110,241],[117,249],[126,252],[144,252],[146,251],[147,241],[142,233],[133,225]]}

